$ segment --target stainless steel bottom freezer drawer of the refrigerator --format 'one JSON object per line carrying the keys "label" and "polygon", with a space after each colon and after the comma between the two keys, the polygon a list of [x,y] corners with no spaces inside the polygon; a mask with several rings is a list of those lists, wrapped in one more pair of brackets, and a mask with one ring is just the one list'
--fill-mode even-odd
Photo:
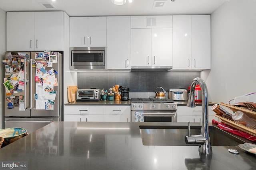
{"label": "stainless steel bottom freezer drawer of the refrigerator", "polygon": [[18,117],[5,117],[4,120],[4,128],[10,127],[22,127],[27,129],[27,133],[32,133],[53,121],[60,121],[59,117],[52,117],[52,118],[18,118]]}

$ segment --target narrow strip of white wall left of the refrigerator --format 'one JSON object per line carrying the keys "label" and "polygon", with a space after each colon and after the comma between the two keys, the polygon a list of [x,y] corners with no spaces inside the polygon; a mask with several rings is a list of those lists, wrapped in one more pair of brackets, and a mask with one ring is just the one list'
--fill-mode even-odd
{"label": "narrow strip of white wall left of the refrigerator", "polygon": [[[0,8],[0,60],[2,63],[2,60],[4,60],[4,52],[6,50],[6,31],[5,31],[5,27],[6,27],[6,12],[4,10],[2,10]],[[0,66],[0,82],[2,82],[4,79],[4,67]],[[2,92],[4,92],[4,86],[1,85],[0,86],[0,92],[1,92],[1,98],[0,98],[0,129],[2,129],[3,127],[3,117],[4,117],[4,95],[2,94]]]}

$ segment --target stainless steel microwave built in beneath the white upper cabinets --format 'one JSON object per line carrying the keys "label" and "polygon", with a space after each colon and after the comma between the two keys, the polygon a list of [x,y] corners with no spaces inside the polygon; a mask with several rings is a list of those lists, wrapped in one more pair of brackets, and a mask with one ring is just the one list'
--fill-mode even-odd
{"label": "stainless steel microwave built in beneath the white upper cabinets", "polygon": [[106,47],[70,47],[70,69],[106,69]]}

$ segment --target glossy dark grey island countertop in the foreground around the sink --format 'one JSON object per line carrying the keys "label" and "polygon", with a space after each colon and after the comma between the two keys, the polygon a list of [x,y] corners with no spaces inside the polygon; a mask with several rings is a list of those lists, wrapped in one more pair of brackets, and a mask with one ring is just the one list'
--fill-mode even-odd
{"label": "glossy dark grey island countertop in the foreground around the sink", "polygon": [[[139,125],[150,122],[53,122],[0,149],[1,161],[27,161],[28,170],[252,170],[255,155],[239,147],[144,146]],[[200,125],[192,123],[191,125]],[[240,154],[231,154],[228,149]]]}

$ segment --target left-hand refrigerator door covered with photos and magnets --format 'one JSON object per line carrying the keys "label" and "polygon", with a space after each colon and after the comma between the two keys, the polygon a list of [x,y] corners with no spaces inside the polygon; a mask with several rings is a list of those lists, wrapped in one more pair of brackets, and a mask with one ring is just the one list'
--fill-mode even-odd
{"label": "left-hand refrigerator door covered with photos and magnets", "polygon": [[[28,54],[30,56],[30,52],[21,52],[24,54]],[[30,68],[29,68],[29,62],[26,61],[26,64],[24,64],[24,59],[19,59],[18,58],[18,52],[6,52],[5,55],[10,55],[12,54],[13,57],[17,58],[12,58],[12,62],[10,63],[10,68],[9,68],[9,74],[6,75],[6,72],[8,72],[7,69],[5,69],[5,78],[11,78],[11,81],[13,81],[13,86],[14,86],[14,92],[13,93],[8,93],[6,90],[4,91],[5,99],[6,102],[4,102],[4,116],[6,117],[30,117],[30,106],[29,106],[29,73],[30,73]],[[15,56],[14,56],[15,55]],[[15,61],[14,61],[15,59]],[[14,70],[14,68],[16,70]],[[14,80],[14,77],[18,77],[18,73],[26,72],[24,75],[24,79],[21,78],[21,80],[16,79]],[[15,75],[17,76],[11,76]],[[24,83],[24,89],[21,90],[22,86],[20,85],[22,82]],[[19,84],[19,85],[17,85]],[[18,91],[19,89],[19,91]],[[10,100],[11,98],[11,100]],[[22,104],[20,103],[22,101]],[[10,107],[11,106],[11,107]]]}

